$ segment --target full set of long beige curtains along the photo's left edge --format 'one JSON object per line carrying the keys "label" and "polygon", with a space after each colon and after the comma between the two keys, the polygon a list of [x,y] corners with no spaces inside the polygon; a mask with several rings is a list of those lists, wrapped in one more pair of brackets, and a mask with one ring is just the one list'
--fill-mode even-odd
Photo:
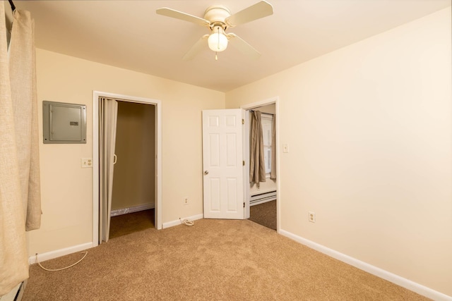
{"label": "full set of long beige curtains along the photo's left edge", "polygon": [[28,278],[25,230],[40,227],[33,22],[14,11],[8,57],[0,5],[0,295]]}

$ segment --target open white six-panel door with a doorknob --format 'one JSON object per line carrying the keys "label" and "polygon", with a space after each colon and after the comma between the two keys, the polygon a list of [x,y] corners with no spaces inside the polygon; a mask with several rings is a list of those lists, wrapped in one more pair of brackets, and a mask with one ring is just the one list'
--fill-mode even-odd
{"label": "open white six-panel door with a doorknob", "polygon": [[205,219],[244,219],[242,111],[203,111]]}

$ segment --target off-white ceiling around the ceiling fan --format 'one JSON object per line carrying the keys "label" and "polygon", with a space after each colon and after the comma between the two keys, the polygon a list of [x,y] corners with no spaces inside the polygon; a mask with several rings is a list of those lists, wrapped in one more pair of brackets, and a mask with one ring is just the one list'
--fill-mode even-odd
{"label": "off-white ceiling around the ceiling fan", "polygon": [[35,19],[36,46],[222,92],[278,73],[434,11],[451,0],[268,0],[273,16],[230,28],[261,52],[249,59],[228,47],[182,56],[206,27],[160,16],[160,7],[203,18],[213,4],[232,13],[258,0],[14,1]]}

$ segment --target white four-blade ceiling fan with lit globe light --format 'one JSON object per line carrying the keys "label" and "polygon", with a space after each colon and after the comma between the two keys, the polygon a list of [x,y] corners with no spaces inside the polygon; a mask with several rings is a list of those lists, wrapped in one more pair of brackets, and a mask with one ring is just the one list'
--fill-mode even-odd
{"label": "white four-blade ceiling fan with lit globe light", "polygon": [[184,55],[184,61],[189,61],[198,54],[206,45],[215,51],[215,59],[218,59],[217,53],[224,51],[230,41],[231,44],[251,58],[258,59],[261,54],[250,44],[233,33],[226,33],[227,28],[236,25],[248,23],[273,14],[273,6],[267,1],[260,1],[252,6],[244,8],[238,13],[231,14],[229,8],[222,5],[210,6],[204,12],[204,18],[192,16],[188,13],[182,13],[172,8],[158,8],[156,13],[162,16],[176,18],[179,20],[196,23],[206,26],[210,29],[210,34],[203,35],[193,47]]}

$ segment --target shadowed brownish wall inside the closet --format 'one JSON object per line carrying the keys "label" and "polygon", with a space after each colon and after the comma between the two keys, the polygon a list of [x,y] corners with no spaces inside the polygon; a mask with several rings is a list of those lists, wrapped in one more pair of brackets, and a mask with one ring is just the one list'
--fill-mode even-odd
{"label": "shadowed brownish wall inside the closet", "polygon": [[155,106],[118,102],[112,210],[155,204]]}

